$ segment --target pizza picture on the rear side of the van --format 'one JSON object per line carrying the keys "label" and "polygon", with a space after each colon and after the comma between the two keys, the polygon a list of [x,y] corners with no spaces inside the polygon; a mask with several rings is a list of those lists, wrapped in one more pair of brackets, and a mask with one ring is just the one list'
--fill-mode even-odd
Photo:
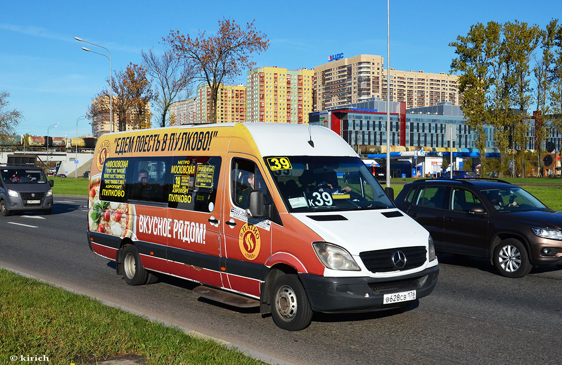
{"label": "pizza picture on the rear side of the van", "polygon": [[134,206],[99,200],[101,174],[92,176],[88,191],[88,225],[90,231],[114,236],[132,237]]}

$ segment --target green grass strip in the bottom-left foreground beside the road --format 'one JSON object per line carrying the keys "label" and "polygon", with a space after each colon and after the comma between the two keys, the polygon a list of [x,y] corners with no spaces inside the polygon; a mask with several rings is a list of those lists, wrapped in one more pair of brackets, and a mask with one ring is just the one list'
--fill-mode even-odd
{"label": "green grass strip in the bottom-left foreground beside the road", "polygon": [[261,363],[179,328],[7,270],[0,270],[0,298],[0,363],[10,363],[12,355],[44,355],[55,364],[123,355],[139,355],[147,364]]}

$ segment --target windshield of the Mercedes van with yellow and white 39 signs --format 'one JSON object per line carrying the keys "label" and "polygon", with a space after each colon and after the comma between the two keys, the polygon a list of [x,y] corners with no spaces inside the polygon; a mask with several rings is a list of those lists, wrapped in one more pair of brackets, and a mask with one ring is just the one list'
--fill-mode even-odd
{"label": "windshield of the Mercedes van with yellow and white 39 signs", "polygon": [[359,157],[265,157],[289,212],[393,208]]}

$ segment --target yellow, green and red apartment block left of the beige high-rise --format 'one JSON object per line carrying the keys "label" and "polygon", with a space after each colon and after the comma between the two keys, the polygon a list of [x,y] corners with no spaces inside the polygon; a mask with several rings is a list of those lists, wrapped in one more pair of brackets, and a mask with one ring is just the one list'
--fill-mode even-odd
{"label": "yellow, green and red apartment block left of the beige high-rise", "polygon": [[247,121],[308,124],[314,70],[260,67],[248,71]]}

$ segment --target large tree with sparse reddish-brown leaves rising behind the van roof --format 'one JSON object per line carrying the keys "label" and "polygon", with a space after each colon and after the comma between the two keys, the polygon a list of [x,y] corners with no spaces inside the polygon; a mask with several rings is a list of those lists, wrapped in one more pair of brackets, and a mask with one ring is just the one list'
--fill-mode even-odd
{"label": "large tree with sparse reddish-brown leaves rising behind the van roof", "polygon": [[216,35],[206,35],[199,31],[192,38],[170,31],[164,42],[170,45],[176,56],[192,62],[198,79],[205,81],[211,90],[211,120],[216,122],[216,103],[222,83],[232,82],[243,70],[251,70],[256,65],[250,61],[252,53],[266,51],[269,47],[267,35],[253,26],[255,20],[241,27],[234,20],[219,21]]}

